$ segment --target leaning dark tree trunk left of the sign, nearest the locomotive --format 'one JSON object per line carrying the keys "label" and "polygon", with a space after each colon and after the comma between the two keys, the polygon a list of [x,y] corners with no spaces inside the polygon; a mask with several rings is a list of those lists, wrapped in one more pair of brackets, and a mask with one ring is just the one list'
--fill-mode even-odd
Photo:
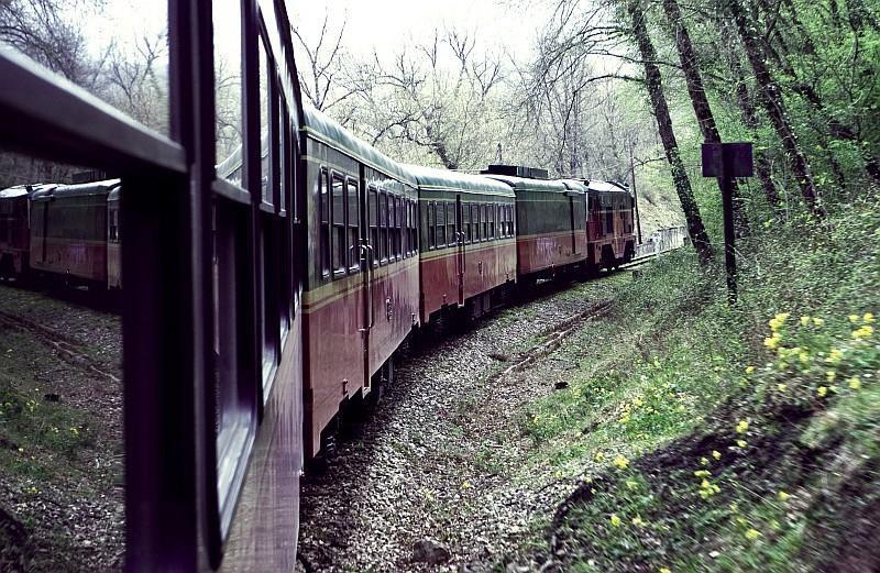
{"label": "leaning dark tree trunk left of the sign, nearest the locomotive", "polygon": [[679,154],[679,143],[675,141],[675,133],[672,130],[672,118],[669,114],[669,106],[663,95],[663,85],[660,78],[660,68],[657,67],[657,52],[654,51],[651,37],[648,35],[648,27],[645,24],[645,11],[640,5],[640,0],[629,0],[627,12],[632,20],[632,34],[636,36],[639,53],[645,65],[645,84],[648,87],[648,96],[651,99],[651,107],[657,117],[657,128],[660,141],[663,142],[663,150],[667,159],[672,167],[672,180],[679,194],[681,208],[684,211],[684,219],[688,222],[688,232],[694,243],[696,253],[701,262],[706,262],[712,257],[712,245],[710,244],[706,229],[703,227],[703,218],[700,216],[700,208],[694,199],[691,189],[691,180],[684,169],[684,163]]}

